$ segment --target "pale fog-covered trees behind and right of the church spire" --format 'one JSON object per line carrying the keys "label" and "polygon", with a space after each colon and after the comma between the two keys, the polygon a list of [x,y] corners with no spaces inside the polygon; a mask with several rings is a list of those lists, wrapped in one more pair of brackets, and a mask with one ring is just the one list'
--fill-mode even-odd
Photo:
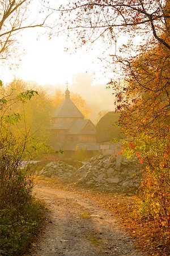
{"label": "pale fog-covered trees behind and right of the church spire", "polygon": [[[51,96],[57,89],[65,93],[66,87],[66,84],[43,86],[46,92]],[[74,75],[72,84],[68,84],[68,89],[70,90],[70,98],[71,93],[77,93],[86,101],[88,108],[91,110],[91,114],[88,118],[90,118],[95,125],[104,114],[109,111],[114,111],[114,96],[112,94],[112,89],[107,89],[107,85],[94,85],[92,75],[87,72]]]}

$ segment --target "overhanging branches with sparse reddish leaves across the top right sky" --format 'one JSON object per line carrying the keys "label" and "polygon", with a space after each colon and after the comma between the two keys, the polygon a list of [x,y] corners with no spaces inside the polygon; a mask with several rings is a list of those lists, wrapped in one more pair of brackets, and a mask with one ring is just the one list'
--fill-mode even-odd
{"label": "overhanging branches with sparse reddish leaves across the top right sky", "polygon": [[[161,0],[83,0],[53,3],[42,0],[46,9],[59,15],[56,33],[63,31],[75,44],[75,48],[92,48],[97,40],[102,44],[100,59],[106,61],[107,71],[112,70],[124,77],[124,67],[117,65],[118,57],[133,59],[137,42],[145,47],[148,39],[154,36],[157,42],[170,49],[162,35],[169,31],[169,1]],[[168,33],[167,33],[168,34]],[[123,39],[121,40],[121,36]],[[127,36],[129,39],[127,39]],[[95,44],[94,44],[95,46]],[[99,47],[97,45],[97,47]],[[132,52],[131,49],[134,51]],[[141,50],[140,50],[141,51]],[[107,57],[108,56],[108,57]],[[114,64],[111,63],[113,56]],[[109,63],[108,63],[108,60]],[[112,65],[113,64],[113,65]],[[115,79],[115,78],[114,78]]]}

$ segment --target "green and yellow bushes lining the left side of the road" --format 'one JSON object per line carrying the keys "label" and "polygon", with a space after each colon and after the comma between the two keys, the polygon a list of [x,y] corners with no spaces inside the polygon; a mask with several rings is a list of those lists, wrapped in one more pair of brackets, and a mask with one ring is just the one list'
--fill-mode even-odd
{"label": "green and yellow bushes lining the left side of the road", "polygon": [[14,90],[1,87],[1,255],[23,253],[40,224],[40,204],[33,203],[31,196],[33,179],[28,174],[29,165],[22,168],[22,160],[31,158],[34,140],[27,129],[16,133],[22,114],[14,112],[15,105],[30,101],[37,91],[25,90],[16,96],[13,92]]}

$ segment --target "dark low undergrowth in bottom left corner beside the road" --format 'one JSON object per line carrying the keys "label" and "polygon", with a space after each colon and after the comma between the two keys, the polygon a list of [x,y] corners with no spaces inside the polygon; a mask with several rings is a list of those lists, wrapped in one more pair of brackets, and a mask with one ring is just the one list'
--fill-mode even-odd
{"label": "dark low undergrowth in bottom left corner beside the road", "polygon": [[22,255],[40,228],[44,205],[33,199],[20,205],[0,210],[0,254]]}

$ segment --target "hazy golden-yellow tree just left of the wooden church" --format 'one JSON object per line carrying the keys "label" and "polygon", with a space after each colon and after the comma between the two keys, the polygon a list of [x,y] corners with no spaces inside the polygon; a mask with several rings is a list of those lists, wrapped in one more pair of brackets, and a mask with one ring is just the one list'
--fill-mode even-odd
{"label": "hazy golden-yellow tree just left of the wooden church", "polygon": [[[50,115],[53,112],[52,100],[40,86],[31,86],[38,94],[28,102],[19,101],[18,104],[12,105],[8,112],[9,114],[10,112],[18,113],[21,117],[17,127],[15,127],[15,132],[18,131],[18,134],[26,132],[29,136],[45,142],[48,138],[47,127],[49,126]],[[8,94],[11,94],[11,97],[18,97],[29,87],[29,83],[15,79],[6,86],[6,90]]]}

